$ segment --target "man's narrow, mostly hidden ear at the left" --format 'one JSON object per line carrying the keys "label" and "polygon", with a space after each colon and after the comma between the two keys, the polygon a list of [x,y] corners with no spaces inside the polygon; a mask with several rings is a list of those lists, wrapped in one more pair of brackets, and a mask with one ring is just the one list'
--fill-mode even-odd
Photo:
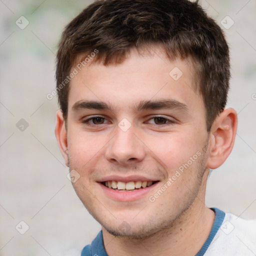
{"label": "man's narrow, mostly hidden ear at the left", "polygon": [[68,151],[67,151],[67,133],[65,129],[65,121],[61,110],[56,112],[56,126],[55,136],[58,142],[58,147],[65,160],[66,166],[68,166]]}

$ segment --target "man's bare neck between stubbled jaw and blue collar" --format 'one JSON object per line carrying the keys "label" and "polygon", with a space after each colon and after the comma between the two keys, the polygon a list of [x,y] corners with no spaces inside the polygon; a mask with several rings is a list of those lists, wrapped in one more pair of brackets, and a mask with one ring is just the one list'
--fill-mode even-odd
{"label": "man's bare neck between stubbled jaw and blue collar", "polygon": [[195,255],[207,239],[214,221],[214,212],[204,204],[207,172],[204,174],[204,180],[193,204],[168,228],[159,230],[150,237],[131,239],[115,237],[102,227],[107,254]]}

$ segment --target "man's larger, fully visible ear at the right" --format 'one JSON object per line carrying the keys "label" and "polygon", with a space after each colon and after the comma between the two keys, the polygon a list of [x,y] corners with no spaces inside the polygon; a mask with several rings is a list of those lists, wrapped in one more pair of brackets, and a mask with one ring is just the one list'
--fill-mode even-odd
{"label": "man's larger, fully visible ear at the right", "polygon": [[224,109],[211,126],[207,167],[219,167],[230,154],[237,128],[237,114],[233,108]]}

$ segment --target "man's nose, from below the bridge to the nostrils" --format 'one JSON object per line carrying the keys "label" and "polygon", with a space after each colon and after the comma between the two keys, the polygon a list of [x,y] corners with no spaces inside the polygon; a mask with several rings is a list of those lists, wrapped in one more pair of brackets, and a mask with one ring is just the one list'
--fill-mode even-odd
{"label": "man's nose, from below the bridge to the nostrils", "polygon": [[115,135],[107,143],[106,159],[119,165],[135,164],[142,161],[145,158],[145,145],[133,125],[126,131],[117,126],[115,131]]}

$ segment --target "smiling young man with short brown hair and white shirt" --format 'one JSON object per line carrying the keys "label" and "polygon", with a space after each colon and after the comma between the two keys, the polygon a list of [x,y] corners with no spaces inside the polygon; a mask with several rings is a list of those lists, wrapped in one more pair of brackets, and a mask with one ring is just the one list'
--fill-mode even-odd
{"label": "smiling young man with short brown hair and white shirt", "polygon": [[55,134],[102,230],[81,255],[255,255],[255,221],[204,204],[232,150],[228,46],[187,0],[99,0],[65,28]]}

